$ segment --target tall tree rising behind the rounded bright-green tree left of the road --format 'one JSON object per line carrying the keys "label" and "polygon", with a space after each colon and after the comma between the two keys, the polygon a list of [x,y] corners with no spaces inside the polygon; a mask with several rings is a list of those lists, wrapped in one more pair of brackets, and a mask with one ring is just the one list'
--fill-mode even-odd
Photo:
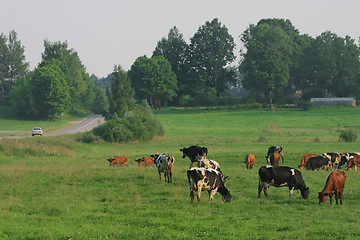
{"label": "tall tree rising behind the rounded bright-green tree left of the road", "polygon": [[91,109],[95,98],[94,84],[81,63],[77,52],[74,49],[69,49],[67,42],[44,40],[44,47],[43,61],[57,59],[68,68],[72,109]]}

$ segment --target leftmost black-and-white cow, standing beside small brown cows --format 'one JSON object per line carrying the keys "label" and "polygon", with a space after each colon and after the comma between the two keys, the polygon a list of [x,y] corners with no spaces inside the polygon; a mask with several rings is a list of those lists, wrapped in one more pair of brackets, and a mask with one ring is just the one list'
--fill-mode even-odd
{"label": "leftmost black-and-white cow, standing beside small brown cows", "polygon": [[159,179],[161,181],[161,173],[164,173],[165,182],[172,182],[175,158],[170,154],[155,154],[154,163],[158,169]]}

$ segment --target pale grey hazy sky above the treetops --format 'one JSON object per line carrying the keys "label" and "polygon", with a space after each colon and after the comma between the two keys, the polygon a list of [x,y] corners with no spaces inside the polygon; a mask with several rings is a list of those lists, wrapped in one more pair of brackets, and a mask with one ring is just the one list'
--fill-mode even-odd
{"label": "pale grey hazy sky above the treetops", "polygon": [[218,18],[240,49],[239,36],[263,18],[289,19],[313,37],[331,31],[360,37],[359,0],[2,0],[0,33],[18,33],[31,70],[41,61],[43,40],[67,41],[89,74],[105,77],[114,65],[128,70],[151,56],[176,26],[189,43],[198,28]]}

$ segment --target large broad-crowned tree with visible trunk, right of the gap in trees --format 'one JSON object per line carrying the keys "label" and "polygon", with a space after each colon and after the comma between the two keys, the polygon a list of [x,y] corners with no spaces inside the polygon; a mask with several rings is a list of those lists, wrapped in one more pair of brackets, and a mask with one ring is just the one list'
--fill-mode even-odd
{"label": "large broad-crowned tree with visible trunk, right of the gap in trees", "polygon": [[281,27],[262,23],[250,25],[241,41],[246,48],[240,64],[244,87],[262,92],[272,108],[274,91],[287,86],[290,78],[292,39]]}

